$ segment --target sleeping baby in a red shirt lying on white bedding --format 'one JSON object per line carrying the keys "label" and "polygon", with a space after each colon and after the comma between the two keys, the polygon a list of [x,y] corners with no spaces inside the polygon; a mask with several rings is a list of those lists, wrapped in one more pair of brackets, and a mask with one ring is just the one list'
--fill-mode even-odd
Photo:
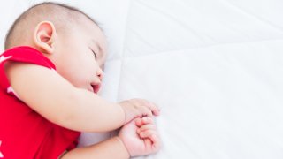
{"label": "sleeping baby in a red shirt lying on white bedding", "polygon": [[[105,58],[105,37],[82,11],[42,3],[21,14],[0,55],[1,157],[104,159],[156,153],[156,105],[142,99],[112,103],[96,95]],[[120,127],[111,139],[76,148],[80,132]]]}

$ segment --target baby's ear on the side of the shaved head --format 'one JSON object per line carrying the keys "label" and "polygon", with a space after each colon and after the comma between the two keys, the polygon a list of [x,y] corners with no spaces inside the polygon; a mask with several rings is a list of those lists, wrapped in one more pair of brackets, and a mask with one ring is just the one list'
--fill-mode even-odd
{"label": "baby's ear on the side of the shaved head", "polygon": [[44,53],[53,53],[52,44],[56,37],[55,27],[50,21],[42,21],[34,29],[34,44]]}

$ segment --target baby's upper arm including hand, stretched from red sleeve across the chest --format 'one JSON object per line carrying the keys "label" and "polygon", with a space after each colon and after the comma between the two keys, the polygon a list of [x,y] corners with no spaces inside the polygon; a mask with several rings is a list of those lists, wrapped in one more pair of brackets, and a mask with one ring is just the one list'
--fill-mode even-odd
{"label": "baby's upper arm including hand, stretched from red sleeve across the chest", "polygon": [[73,87],[57,72],[35,64],[5,65],[11,87],[19,99],[51,122],[81,132],[105,132],[134,117],[157,115],[146,102],[111,103],[85,89]]}

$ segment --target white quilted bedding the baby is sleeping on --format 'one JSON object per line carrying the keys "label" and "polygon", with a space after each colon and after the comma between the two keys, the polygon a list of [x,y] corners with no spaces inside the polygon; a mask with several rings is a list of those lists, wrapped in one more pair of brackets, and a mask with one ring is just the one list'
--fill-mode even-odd
{"label": "white quilted bedding the baby is sleeping on", "polygon": [[[2,3],[1,43],[37,2]],[[283,1],[57,2],[86,11],[108,38],[100,94],[161,108],[163,147],[141,158],[283,158]],[[84,133],[80,145],[109,136]]]}

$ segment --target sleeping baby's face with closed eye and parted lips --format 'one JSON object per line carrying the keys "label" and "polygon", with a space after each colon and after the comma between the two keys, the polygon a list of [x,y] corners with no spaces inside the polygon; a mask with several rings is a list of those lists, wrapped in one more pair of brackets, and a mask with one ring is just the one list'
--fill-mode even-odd
{"label": "sleeping baby's face with closed eye and parted lips", "polygon": [[68,34],[58,33],[54,48],[57,72],[75,87],[97,93],[106,58],[106,40],[100,28],[85,19]]}

